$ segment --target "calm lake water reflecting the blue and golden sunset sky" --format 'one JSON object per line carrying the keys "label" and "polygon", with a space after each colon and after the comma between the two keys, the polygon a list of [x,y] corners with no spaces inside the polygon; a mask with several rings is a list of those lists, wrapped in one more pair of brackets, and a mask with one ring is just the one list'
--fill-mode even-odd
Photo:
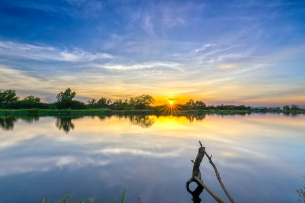
{"label": "calm lake water reflecting the blue and golden sunset sky", "polygon": [[[73,194],[100,203],[192,203],[186,181],[201,140],[239,203],[297,203],[305,115],[0,118],[0,202]],[[204,158],[203,182],[229,202]],[[194,185],[191,185],[194,189]],[[215,202],[204,190],[201,203]],[[117,201],[119,202],[119,201]]]}

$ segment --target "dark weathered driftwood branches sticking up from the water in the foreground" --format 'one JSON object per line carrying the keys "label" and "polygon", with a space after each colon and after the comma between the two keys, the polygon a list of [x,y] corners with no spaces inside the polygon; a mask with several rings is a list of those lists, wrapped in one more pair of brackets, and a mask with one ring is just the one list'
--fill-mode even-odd
{"label": "dark weathered driftwood branches sticking up from the water in the foreground", "polygon": [[[233,200],[233,198],[229,195],[227,189],[225,188],[225,186],[223,185],[223,182],[220,178],[220,175],[217,171],[217,168],[215,166],[215,164],[212,161],[212,155],[209,156],[206,151],[205,148],[202,146],[201,142],[200,143],[200,147],[198,149],[198,154],[196,156],[195,161],[191,160],[193,162],[193,172],[192,172],[192,177],[186,182],[186,190],[193,196],[193,202],[194,203],[200,203],[201,199],[199,198],[200,193],[203,191],[203,189],[205,188],[205,190],[218,202],[218,203],[226,203],[225,201],[223,201],[221,198],[219,198],[217,195],[215,195],[215,193],[213,193],[201,180],[201,173],[200,173],[200,169],[199,166],[201,164],[201,161],[204,157],[204,155],[206,155],[209,159],[210,164],[213,166],[215,173],[216,173],[216,177],[223,189],[223,191],[225,192],[226,196],[228,197],[228,199],[230,200],[231,203],[237,203],[235,200]],[[197,184],[198,187],[191,192],[189,190],[189,184],[195,182]],[[202,190],[200,188],[200,186],[202,186]],[[201,190],[201,192],[198,194],[198,192]]]}

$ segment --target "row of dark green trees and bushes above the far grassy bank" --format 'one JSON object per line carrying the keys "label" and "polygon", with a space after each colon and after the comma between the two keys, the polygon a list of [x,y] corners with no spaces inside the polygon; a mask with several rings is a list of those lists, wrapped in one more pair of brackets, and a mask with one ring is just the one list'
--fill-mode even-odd
{"label": "row of dark green trees and bushes above the far grassy bank", "polygon": [[[44,103],[41,99],[32,95],[19,100],[15,90],[0,91],[0,108],[4,109],[23,109],[23,108],[40,108],[40,109],[89,109],[89,108],[109,108],[112,110],[132,110],[132,109],[161,109],[165,105],[152,106],[155,102],[150,95],[141,95],[131,97],[129,100],[109,100],[100,98],[92,99],[88,103],[74,100],[75,92],[70,88],[57,94],[56,102]],[[189,100],[185,104],[176,104],[180,110],[251,110],[250,106],[245,105],[206,105],[202,101]],[[279,107],[278,107],[279,108]],[[298,105],[283,106],[285,110],[300,110]]]}

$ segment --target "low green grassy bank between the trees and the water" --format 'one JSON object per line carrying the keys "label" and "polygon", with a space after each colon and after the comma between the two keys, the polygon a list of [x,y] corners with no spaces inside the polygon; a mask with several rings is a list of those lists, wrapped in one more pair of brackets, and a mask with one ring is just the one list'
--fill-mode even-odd
{"label": "low green grassy bank between the trees and the water", "polygon": [[305,110],[278,110],[278,111],[258,111],[258,110],[180,110],[173,112],[158,112],[155,109],[143,109],[143,110],[111,110],[111,109],[1,109],[0,115],[18,115],[18,116],[52,116],[52,115],[189,115],[189,114],[247,114],[251,112],[275,112],[275,113],[296,113],[305,114]]}

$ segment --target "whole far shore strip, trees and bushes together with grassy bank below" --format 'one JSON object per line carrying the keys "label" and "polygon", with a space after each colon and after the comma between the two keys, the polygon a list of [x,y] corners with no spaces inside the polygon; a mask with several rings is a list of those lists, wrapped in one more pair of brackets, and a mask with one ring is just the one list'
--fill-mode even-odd
{"label": "whole far shore strip, trees and bushes together with grassy bank below", "polygon": [[167,104],[154,106],[154,98],[150,95],[132,97],[129,100],[89,100],[87,103],[74,100],[75,92],[70,88],[57,94],[56,102],[44,103],[34,96],[27,96],[22,100],[16,96],[14,90],[0,92],[0,115],[111,115],[111,114],[232,114],[249,112],[284,112],[305,113],[305,109],[298,105],[285,105],[281,107],[251,107],[245,105],[206,105],[202,101],[189,100],[184,104],[175,104],[169,101]]}

